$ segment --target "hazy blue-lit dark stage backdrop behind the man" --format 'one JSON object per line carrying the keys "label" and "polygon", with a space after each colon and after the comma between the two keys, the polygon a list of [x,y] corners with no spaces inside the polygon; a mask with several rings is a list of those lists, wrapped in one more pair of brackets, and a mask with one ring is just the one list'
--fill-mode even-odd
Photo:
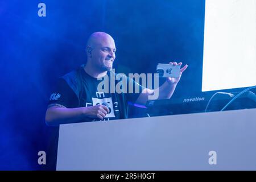
{"label": "hazy blue-lit dark stage backdrop behind the man", "polygon": [[[40,2],[46,17],[38,16]],[[154,73],[157,63],[182,61],[189,67],[173,97],[200,92],[204,6],[204,0],[1,1],[0,169],[54,169],[48,146],[57,128],[44,122],[48,98],[59,76],[86,62],[86,40],[95,31],[115,40],[115,72]],[[38,164],[40,150],[46,166]]]}

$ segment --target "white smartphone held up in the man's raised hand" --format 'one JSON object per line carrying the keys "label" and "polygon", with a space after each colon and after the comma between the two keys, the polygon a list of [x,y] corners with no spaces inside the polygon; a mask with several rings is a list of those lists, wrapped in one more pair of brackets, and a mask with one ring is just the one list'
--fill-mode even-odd
{"label": "white smartphone held up in the man's raised hand", "polygon": [[159,77],[177,78],[180,76],[180,65],[159,63],[156,67],[156,72],[159,74]]}

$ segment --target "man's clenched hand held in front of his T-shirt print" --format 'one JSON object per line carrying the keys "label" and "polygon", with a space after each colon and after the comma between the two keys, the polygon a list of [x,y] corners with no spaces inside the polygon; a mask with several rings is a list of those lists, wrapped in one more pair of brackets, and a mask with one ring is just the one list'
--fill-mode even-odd
{"label": "man's clenched hand held in front of his T-shirt print", "polygon": [[102,120],[109,113],[109,108],[98,104],[95,106],[84,107],[84,113],[88,118],[98,118]]}

